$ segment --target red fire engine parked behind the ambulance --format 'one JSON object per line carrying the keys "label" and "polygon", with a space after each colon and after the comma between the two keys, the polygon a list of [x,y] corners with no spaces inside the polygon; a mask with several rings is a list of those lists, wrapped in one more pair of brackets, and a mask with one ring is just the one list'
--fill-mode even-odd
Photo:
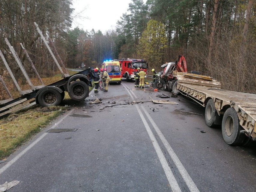
{"label": "red fire engine parked behind the ambulance", "polygon": [[126,78],[126,81],[134,79],[134,72],[137,71],[138,67],[140,69],[143,69],[143,71],[145,71],[147,74],[148,63],[143,59],[123,58],[114,60],[120,62],[120,66],[122,69],[121,74],[123,78]]}

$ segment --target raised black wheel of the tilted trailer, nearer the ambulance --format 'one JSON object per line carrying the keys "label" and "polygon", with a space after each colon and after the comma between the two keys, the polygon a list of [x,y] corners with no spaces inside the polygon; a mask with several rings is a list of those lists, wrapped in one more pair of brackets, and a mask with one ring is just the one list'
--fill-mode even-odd
{"label": "raised black wheel of the tilted trailer, nearer the ambulance", "polygon": [[76,101],[82,101],[89,95],[89,87],[84,81],[74,81],[69,85],[69,96]]}

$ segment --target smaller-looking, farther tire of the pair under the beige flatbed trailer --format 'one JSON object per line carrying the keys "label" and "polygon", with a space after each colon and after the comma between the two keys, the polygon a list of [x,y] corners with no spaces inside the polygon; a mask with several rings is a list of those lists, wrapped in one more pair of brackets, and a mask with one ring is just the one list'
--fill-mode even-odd
{"label": "smaller-looking, farther tire of the pair under the beige flatbed trailer", "polygon": [[205,108],[205,122],[209,127],[215,127],[214,119],[216,118],[217,111],[215,109],[215,104],[212,99],[209,99],[209,101],[206,104]]}

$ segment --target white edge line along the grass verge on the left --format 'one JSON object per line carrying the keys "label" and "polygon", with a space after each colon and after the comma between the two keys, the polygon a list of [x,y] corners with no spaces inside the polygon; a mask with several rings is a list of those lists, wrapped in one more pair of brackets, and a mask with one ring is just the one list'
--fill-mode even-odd
{"label": "white edge line along the grass verge on the left", "polygon": [[[64,120],[67,116],[69,116],[69,114],[72,112],[73,110],[69,111],[68,114],[66,114],[64,117],[61,118],[61,120],[59,120],[55,125],[53,125],[50,129],[53,129],[54,127],[56,127],[60,122],[62,122],[62,120]],[[0,175],[8,168],[10,167],[13,163],[15,163],[15,161],[17,161],[20,157],[22,157],[27,151],[29,151],[29,149],[31,149],[35,144],[37,144],[41,139],[44,138],[44,136],[46,136],[48,133],[44,133],[42,134],[38,139],[36,139],[34,142],[32,142],[26,149],[24,149],[23,151],[21,151],[16,157],[14,157],[11,161],[9,161],[8,163],[6,163],[6,165],[4,165],[1,169],[0,169]]]}

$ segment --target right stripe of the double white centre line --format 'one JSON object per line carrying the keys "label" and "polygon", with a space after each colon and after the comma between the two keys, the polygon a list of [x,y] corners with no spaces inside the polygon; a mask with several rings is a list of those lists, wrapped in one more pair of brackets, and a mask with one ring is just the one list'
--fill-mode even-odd
{"label": "right stripe of the double white centre line", "polygon": [[[125,85],[125,84],[124,84]],[[138,99],[138,97],[132,92],[129,91],[127,89],[127,85],[126,86],[126,90],[128,91],[128,93],[132,93],[134,95],[134,97],[136,99]],[[131,94],[130,94],[131,96]],[[133,96],[131,96],[133,99]],[[161,139],[161,141],[163,142],[166,150],[168,151],[170,157],[172,158],[173,162],[175,163],[177,169],[179,170],[182,178],[184,179],[184,181],[186,182],[189,190],[191,192],[199,192],[197,186],[194,184],[194,181],[190,178],[189,174],[187,173],[186,169],[184,168],[184,166],[182,165],[181,161],[179,160],[179,158],[177,157],[177,155],[175,154],[175,152],[173,151],[172,147],[170,146],[170,144],[168,143],[168,141],[165,139],[165,137],[163,136],[163,133],[160,131],[160,129],[158,128],[158,126],[156,125],[156,123],[154,122],[154,120],[151,118],[151,116],[148,114],[148,112],[145,110],[145,108],[140,105],[142,107],[142,110],[144,111],[144,113],[146,114],[146,116],[148,117],[148,120],[151,122],[152,126],[154,127],[155,131],[157,132],[159,138]],[[137,107],[137,106],[136,106]]]}

